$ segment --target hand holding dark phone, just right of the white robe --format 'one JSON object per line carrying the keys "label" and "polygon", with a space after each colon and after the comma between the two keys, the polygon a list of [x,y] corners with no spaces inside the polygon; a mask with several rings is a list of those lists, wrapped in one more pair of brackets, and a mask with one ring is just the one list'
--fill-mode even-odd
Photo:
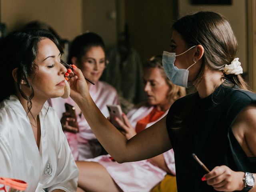
{"label": "hand holding dark phone, just right of the white robe", "polygon": [[65,103],[65,108],[66,113],[63,114],[61,119],[63,130],[73,133],[79,132],[75,107]]}

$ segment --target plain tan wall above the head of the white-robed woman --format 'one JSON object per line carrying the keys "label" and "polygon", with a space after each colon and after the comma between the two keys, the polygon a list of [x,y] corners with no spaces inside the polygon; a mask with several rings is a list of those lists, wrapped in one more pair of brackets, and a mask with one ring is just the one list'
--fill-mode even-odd
{"label": "plain tan wall above the head of the white-robed woman", "polygon": [[82,32],[82,0],[0,0],[0,19],[8,31],[27,22],[50,24],[61,38],[72,40]]}

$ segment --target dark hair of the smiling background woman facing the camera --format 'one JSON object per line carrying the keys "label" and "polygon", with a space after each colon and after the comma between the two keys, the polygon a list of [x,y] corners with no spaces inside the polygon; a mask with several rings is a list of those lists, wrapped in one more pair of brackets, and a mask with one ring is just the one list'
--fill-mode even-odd
{"label": "dark hair of the smiling background woman facing the camera", "polygon": [[68,53],[68,63],[72,63],[72,57],[76,57],[81,62],[82,57],[93,46],[100,46],[105,52],[105,44],[103,39],[96,33],[86,32],[77,36],[70,44]]}

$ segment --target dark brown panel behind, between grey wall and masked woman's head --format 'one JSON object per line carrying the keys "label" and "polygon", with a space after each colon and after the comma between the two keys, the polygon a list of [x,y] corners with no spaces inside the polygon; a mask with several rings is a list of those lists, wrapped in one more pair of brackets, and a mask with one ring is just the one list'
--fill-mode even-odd
{"label": "dark brown panel behind, between grey wall and masked woman's head", "polygon": [[125,1],[130,44],[140,53],[142,61],[169,50],[172,22],[178,16],[177,1]]}

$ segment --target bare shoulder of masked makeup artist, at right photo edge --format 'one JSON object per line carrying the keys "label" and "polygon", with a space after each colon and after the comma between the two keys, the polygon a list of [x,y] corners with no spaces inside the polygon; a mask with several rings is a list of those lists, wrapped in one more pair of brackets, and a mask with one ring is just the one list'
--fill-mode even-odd
{"label": "bare shoulder of masked makeup artist, at right photo edge", "polygon": [[247,156],[256,157],[256,104],[246,106],[238,114],[232,131]]}

